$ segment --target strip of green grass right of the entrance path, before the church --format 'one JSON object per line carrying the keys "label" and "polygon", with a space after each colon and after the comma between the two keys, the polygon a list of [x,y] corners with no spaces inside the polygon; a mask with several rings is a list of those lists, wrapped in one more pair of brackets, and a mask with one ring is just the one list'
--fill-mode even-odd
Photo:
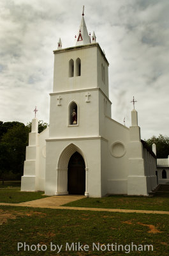
{"label": "strip of green grass right of the entrance path, before the church", "polygon": [[169,211],[169,193],[158,193],[154,197],[112,195],[103,198],[83,198],[65,206]]}

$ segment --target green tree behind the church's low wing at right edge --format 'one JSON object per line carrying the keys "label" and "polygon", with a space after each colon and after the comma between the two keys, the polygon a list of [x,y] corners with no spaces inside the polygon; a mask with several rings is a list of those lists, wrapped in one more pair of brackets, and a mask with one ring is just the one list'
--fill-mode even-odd
{"label": "green tree behind the church's low wing at right edge", "polygon": [[169,137],[159,134],[158,137],[152,136],[149,140],[146,140],[149,148],[152,148],[152,144],[156,144],[157,157],[167,158],[169,155]]}

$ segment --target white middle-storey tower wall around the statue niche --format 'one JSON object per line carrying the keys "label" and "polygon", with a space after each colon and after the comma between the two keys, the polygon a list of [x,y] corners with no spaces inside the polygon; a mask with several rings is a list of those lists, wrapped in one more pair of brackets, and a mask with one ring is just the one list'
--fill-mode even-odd
{"label": "white middle-storey tower wall around the statue niche", "polygon": [[[99,134],[98,90],[89,91],[90,102],[86,102],[88,91],[59,93],[50,96],[50,138],[72,138],[77,136],[94,136]],[[61,105],[57,97],[61,95]],[[69,125],[68,107],[72,101],[78,106],[78,124]]]}

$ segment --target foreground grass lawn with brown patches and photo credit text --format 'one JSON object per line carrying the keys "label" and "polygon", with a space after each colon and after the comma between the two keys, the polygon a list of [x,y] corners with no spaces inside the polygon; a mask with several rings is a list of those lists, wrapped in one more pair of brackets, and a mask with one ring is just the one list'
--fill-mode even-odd
{"label": "foreground grass lawn with brown patches and photo credit text", "polygon": [[[27,207],[0,206],[0,244],[2,256],[17,255],[156,255],[168,256],[168,230],[167,215],[161,214],[136,214],[136,213],[112,213],[73,211],[58,209],[34,209]],[[21,243],[33,246],[34,252],[24,252],[24,248],[17,251],[17,245]],[[66,243],[87,244],[89,252],[66,252]],[[112,252],[108,251],[107,244],[115,243],[125,246],[131,243],[152,244],[153,252]],[[50,252],[50,243],[62,245],[61,252]],[[92,248],[92,243],[103,245],[98,251]],[[39,249],[37,244],[40,244]],[[41,251],[41,245],[44,252]],[[106,246],[106,247],[105,247]],[[54,248],[54,247],[53,247]],[[142,247],[140,247],[142,248]],[[134,248],[135,249],[135,248]],[[39,251],[38,251],[39,250]],[[129,252],[129,246],[126,247]]]}

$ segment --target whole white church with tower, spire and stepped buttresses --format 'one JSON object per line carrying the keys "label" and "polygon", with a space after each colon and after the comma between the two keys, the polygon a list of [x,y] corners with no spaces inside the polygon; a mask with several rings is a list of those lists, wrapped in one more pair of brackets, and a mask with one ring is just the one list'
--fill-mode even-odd
{"label": "whole white church with tower, spire and stepped buttresses", "polygon": [[156,156],[140,138],[137,112],[131,126],[111,118],[108,60],[82,21],[75,46],[54,51],[49,127],[32,122],[22,191],[45,195],[148,195],[157,186]]}

